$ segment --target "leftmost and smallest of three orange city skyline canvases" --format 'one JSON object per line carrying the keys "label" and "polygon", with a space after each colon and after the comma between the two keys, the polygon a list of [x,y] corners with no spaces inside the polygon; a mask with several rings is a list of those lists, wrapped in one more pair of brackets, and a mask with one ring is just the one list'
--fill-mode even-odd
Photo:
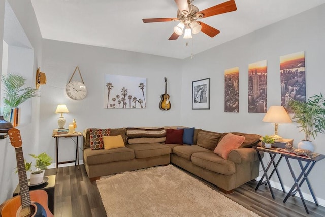
{"label": "leftmost and smallest of three orange city skyline canvases", "polygon": [[239,112],[239,67],[224,70],[224,112]]}

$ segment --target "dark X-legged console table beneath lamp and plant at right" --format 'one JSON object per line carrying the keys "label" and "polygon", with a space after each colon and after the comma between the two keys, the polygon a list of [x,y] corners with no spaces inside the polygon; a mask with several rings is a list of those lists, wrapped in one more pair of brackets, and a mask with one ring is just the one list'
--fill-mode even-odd
{"label": "dark X-legged console table beneath lamp and plant at right", "polygon": [[[257,156],[258,156],[259,162],[261,162],[261,166],[262,166],[264,174],[262,175],[262,178],[259,180],[255,190],[257,190],[258,187],[261,186],[262,184],[268,184],[270,192],[271,192],[272,197],[274,199],[275,196],[274,196],[271,184],[270,184],[270,178],[272,177],[272,175],[275,172],[277,174],[277,176],[278,176],[279,181],[280,181],[282,190],[285,193],[284,186],[283,186],[279,171],[277,170],[277,167],[278,167],[281,159],[284,157],[286,162],[287,162],[287,165],[289,167],[291,176],[294,179],[294,184],[291,187],[288,194],[286,195],[285,199],[283,200],[283,203],[285,203],[290,196],[294,196],[298,192],[299,195],[300,195],[301,201],[303,202],[303,205],[305,207],[306,213],[309,214],[309,211],[308,211],[308,208],[306,206],[305,199],[304,199],[304,196],[303,196],[303,194],[302,194],[302,192],[300,190],[300,187],[306,181],[306,184],[307,184],[308,189],[309,189],[309,191],[310,191],[310,193],[311,193],[311,195],[312,195],[312,197],[313,197],[313,199],[315,201],[315,204],[318,206],[315,194],[314,194],[314,192],[313,192],[313,190],[311,188],[311,184],[310,184],[307,176],[309,175],[310,171],[312,170],[312,168],[314,167],[316,162],[324,159],[325,155],[313,153],[313,157],[308,158],[308,157],[305,157],[305,156],[297,156],[296,154],[281,152],[279,150],[280,149],[278,149],[278,148],[266,149],[266,148],[263,148],[263,147],[256,147]],[[267,166],[264,165],[260,152],[269,153],[271,160],[269,161]],[[277,160],[275,160],[277,156],[279,156],[279,158]],[[300,174],[298,176],[295,174],[295,172],[293,170],[293,167],[291,166],[290,159],[297,160],[298,163],[299,163],[299,166],[301,168],[301,172],[300,172]],[[303,164],[303,162],[305,162],[305,165]],[[269,169],[271,168],[272,165],[273,165],[273,170],[270,173],[270,175],[268,175],[267,172],[269,171]],[[263,181],[264,178],[266,179],[266,181]]]}

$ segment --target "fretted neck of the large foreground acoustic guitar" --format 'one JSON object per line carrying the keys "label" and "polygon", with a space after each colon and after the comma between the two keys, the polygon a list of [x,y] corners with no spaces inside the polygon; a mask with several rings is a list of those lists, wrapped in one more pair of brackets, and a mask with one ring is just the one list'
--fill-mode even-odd
{"label": "fretted neck of the large foreground acoustic guitar", "polygon": [[29,187],[28,187],[28,179],[26,175],[25,169],[25,160],[22,152],[22,147],[16,147],[16,160],[17,160],[17,170],[18,170],[18,178],[19,178],[19,189],[21,196],[21,205],[22,208],[26,208],[31,205]]}

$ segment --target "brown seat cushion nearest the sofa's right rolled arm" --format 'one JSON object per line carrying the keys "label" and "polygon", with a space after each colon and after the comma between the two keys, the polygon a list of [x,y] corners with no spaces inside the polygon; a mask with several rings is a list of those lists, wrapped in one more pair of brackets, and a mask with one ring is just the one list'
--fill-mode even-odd
{"label": "brown seat cushion nearest the sofa's right rolled arm", "polygon": [[193,153],[191,160],[195,165],[223,175],[232,175],[236,172],[234,162],[225,160],[212,151]]}

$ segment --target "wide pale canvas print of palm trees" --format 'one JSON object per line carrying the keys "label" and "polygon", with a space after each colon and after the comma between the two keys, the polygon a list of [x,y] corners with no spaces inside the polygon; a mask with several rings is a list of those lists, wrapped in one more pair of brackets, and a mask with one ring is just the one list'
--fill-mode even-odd
{"label": "wide pale canvas print of palm trees", "polygon": [[104,108],[146,108],[147,79],[123,75],[105,75]]}

